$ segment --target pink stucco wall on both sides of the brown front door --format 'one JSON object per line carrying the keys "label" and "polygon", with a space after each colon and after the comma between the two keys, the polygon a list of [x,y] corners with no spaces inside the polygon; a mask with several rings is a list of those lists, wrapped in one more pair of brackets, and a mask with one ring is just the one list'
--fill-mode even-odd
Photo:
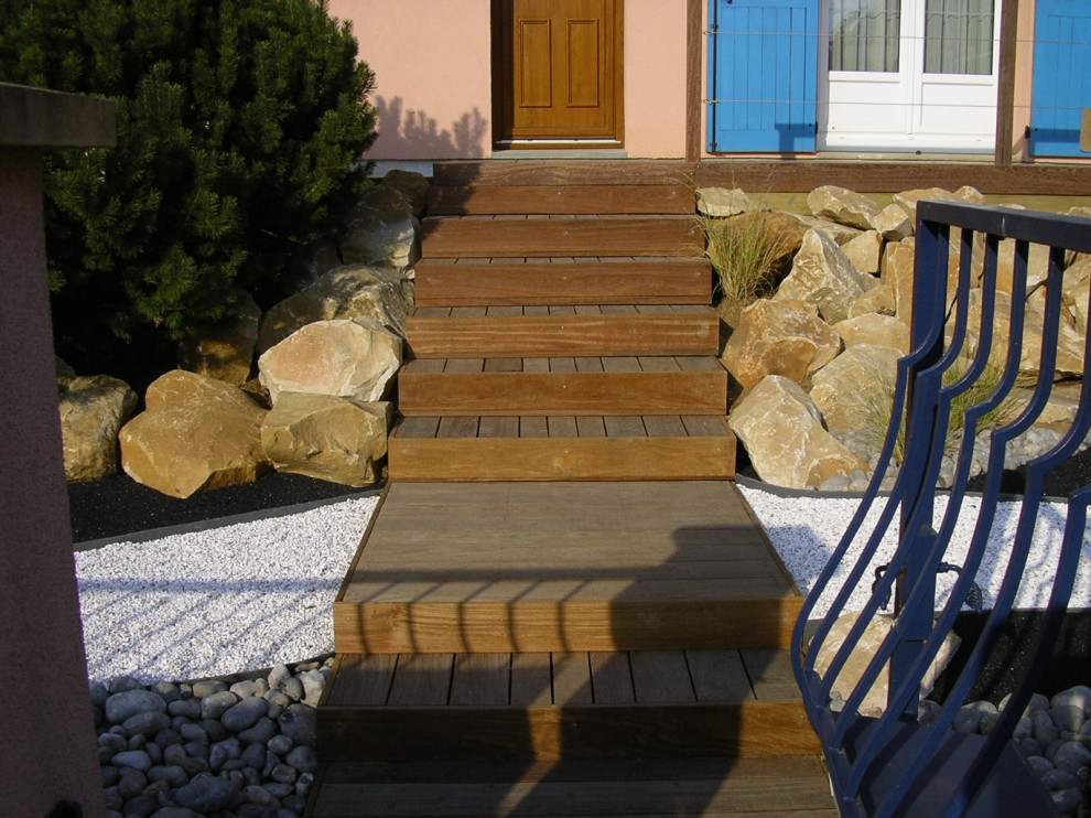
{"label": "pink stucco wall on both sides of the brown front door", "polygon": [[[331,0],[376,75],[377,160],[493,152],[490,0]],[[685,154],[685,2],[625,0],[625,149]]]}

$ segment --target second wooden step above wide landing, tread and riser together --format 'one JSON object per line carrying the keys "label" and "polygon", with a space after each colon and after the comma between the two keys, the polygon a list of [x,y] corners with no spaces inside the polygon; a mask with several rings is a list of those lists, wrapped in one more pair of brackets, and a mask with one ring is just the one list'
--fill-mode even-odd
{"label": "second wooden step above wide landing, tread and riser together", "polygon": [[414,416],[726,415],[714,357],[422,358],[398,374]]}

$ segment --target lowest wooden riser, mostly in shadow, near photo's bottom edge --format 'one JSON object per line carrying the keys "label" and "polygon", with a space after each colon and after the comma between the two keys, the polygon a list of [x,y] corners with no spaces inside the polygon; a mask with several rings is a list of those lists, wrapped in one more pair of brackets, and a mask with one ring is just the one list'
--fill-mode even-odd
{"label": "lowest wooden riser, mostly in shadow, near photo's bottom edge", "polygon": [[318,711],[325,761],[569,761],[820,753],[799,702],[337,708]]}

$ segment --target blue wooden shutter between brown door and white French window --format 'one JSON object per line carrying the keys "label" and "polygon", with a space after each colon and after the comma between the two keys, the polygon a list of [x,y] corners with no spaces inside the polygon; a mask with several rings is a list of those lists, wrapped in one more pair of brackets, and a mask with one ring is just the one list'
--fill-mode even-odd
{"label": "blue wooden shutter between brown door and white French window", "polygon": [[819,0],[711,0],[709,150],[813,151]]}

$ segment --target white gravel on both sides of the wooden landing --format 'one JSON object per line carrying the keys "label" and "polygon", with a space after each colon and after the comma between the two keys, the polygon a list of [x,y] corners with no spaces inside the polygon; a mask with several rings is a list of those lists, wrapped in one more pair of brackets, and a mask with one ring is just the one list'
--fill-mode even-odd
{"label": "white gravel on both sides of the wooden landing", "polygon": [[[858,501],[786,498],[741,488],[797,584],[808,591]],[[331,652],[332,603],[377,503],[377,496],[357,497],[290,516],[78,552],[91,681],[116,676],[144,682],[195,679]],[[937,514],[946,506],[941,497]],[[960,561],[959,547],[970,538],[977,508],[974,499],[964,504],[948,561]],[[977,577],[986,606],[1003,578],[1004,543],[1015,530],[1018,513],[1018,504],[1000,507],[990,557]],[[1051,504],[1039,515],[1019,607],[1041,607],[1048,599],[1066,513],[1065,505]],[[893,548],[888,537],[878,561],[885,561]],[[953,581],[952,574],[941,578],[941,602]],[[850,610],[863,605],[869,584],[868,579],[856,589]],[[1084,535],[1070,606],[1091,607],[1091,534]],[[818,613],[823,611],[821,606]]]}

